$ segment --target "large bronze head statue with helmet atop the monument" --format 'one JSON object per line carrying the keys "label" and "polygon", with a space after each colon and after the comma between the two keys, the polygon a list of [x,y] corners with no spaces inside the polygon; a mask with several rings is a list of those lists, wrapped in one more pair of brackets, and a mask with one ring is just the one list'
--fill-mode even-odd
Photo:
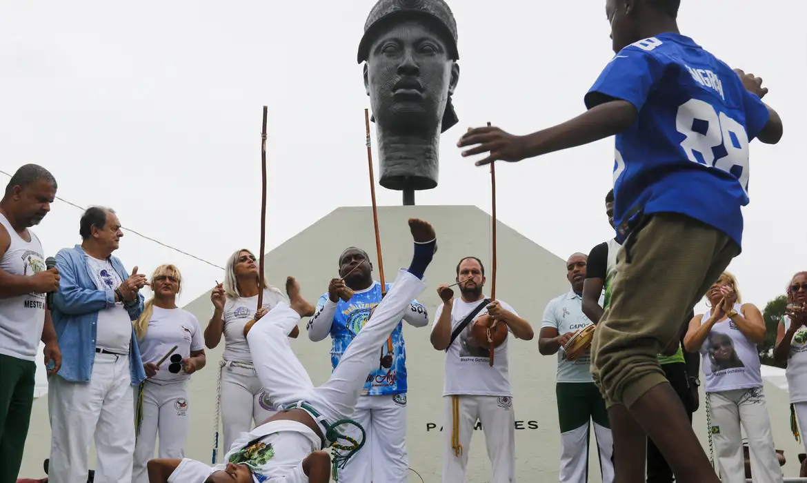
{"label": "large bronze head statue with helmet atop the monument", "polygon": [[414,204],[414,191],[437,187],[440,134],[458,121],[457,23],[443,0],[378,0],[364,30],[358,62],[366,62],[378,183]]}

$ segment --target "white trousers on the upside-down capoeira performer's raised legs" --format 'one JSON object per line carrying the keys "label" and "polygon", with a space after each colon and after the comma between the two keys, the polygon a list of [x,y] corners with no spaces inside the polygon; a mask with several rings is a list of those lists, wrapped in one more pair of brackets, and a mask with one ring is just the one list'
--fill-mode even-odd
{"label": "white trousers on the upside-down capoeira performer's raised legs", "polygon": [[330,378],[319,387],[312,384],[287,337],[299,323],[299,314],[287,304],[271,309],[247,334],[257,376],[270,400],[276,407],[306,401],[331,422],[351,418],[367,375],[378,367],[380,347],[398,325],[403,311],[425,288],[423,280],[408,271],[399,271],[373,317],[350,342]]}

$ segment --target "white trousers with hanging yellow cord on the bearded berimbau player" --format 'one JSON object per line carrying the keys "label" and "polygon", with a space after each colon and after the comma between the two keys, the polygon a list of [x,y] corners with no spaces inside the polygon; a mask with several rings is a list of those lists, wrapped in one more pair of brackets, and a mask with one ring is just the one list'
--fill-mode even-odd
{"label": "white trousers with hanging yellow cord on the bearded berimbau player", "polygon": [[[458,398],[456,419],[454,397]],[[512,397],[445,396],[443,403],[443,483],[466,483],[470,437],[477,420],[482,423],[487,457],[493,468],[491,483],[515,483],[516,414]],[[462,447],[459,455],[454,451],[454,430],[458,431]]]}

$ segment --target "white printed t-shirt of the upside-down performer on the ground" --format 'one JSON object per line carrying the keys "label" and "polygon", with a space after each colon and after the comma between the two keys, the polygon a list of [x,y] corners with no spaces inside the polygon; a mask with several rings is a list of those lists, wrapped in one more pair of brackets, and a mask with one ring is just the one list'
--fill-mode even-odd
{"label": "white printed t-shirt of the upside-down performer on the ground", "polygon": [[208,466],[186,458],[171,473],[168,483],[203,483],[211,473],[226,469],[228,463],[247,464],[253,470],[254,483],[276,477],[283,483],[307,483],[303,460],[319,450],[320,444],[316,433],[302,422],[267,422],[242,433],[224,456],[224,463]]}

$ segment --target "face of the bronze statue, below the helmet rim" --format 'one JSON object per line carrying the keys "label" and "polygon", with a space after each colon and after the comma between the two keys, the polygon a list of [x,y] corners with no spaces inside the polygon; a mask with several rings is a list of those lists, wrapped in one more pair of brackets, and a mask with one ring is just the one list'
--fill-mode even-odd
{"label": "face of the bronze statue, below the helmet rim", "polygon": [[458,72],[445,41],[428,23],[388,24],[370,46],[364,70],[375,122],[403,132],[439,132]]}

